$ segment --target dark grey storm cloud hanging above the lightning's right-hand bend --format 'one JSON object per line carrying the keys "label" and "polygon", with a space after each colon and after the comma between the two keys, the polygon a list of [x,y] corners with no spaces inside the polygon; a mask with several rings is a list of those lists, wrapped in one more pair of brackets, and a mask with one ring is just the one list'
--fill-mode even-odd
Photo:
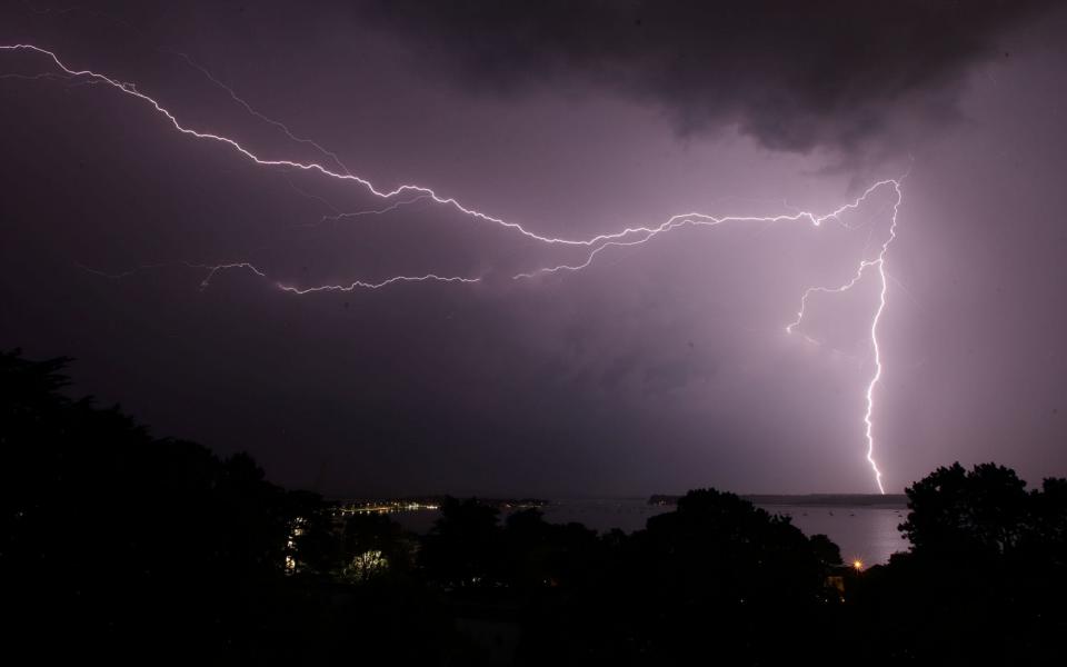
{"label": "dark grey storm cloud hanging above the lightning's right-hand bend", "polygon": [[433,76],[519,93],[599,87],[661,104],[679,131],[736,125],[787,151],[857,150],[900,117],[945,121],[968,68],[1047,0],[372,0]]}

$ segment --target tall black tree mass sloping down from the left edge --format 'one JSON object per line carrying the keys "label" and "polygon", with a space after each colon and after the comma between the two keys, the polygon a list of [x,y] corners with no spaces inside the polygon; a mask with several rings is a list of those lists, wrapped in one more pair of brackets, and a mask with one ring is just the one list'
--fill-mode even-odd
{"label": "tall black tree mass sloping down from the left edge", "polygon": [[[316,576],[339,558],[321,498],[266,481],[248,455],[220,459],[156,439],[118,409],[67,398],[67,361],[0,355],[8,655],[143,664],[450,655],[450,628],[425,590]],[[352,544],[366,532],[353,528]]]}

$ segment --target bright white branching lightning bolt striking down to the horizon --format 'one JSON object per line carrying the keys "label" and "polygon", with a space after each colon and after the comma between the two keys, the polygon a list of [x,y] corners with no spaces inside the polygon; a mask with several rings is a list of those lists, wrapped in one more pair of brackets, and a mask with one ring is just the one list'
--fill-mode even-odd
{"label": "bright white branching lightning bolt striking down to the horizon", "polygon": [[[874,316],[871,318],[871,323],[870,323],[870,345],[874,351],[875,372],[869,384],[867,385],[866,411],[864,414],[862,421],[865,426],[864,434],[865,434],[866,445],[867,445],[866,459],[870,465],[871,470],[874,471],[875,482],[878,486],[878,490],[882,494],[886,492],[885,487],[882,485],[882,474],[879,470],[878,464],[875,460],[876,447],[875,447],[875,437],[874,437],[875,390],[878,386],[878,382],[881,379],[882,371],[884,371],[881,347],[878,341],[878,326],[885,313],[886,303],[887,303],[888,277],[885,268],[886,255],[888,253],[889,247],[897,236],[897,216],[899,212],[900,203],[903,201],[901,185],[907,175],[905,175],[905,177],[901,177],[899,179],[880,180],[871,185],[870,187],[868,187],[861,195],[859,195],[852,201],[845,203],[828,213],[822,213],[822,215],[816,215],[809,211],[796,211],[789,215],[777,215],[777,216],[769,216],[769,217],[755,217],[755,216],[715,217],[715,216],[709,216],[700,212],[688,212],[688,213],[671,216],[660,225],[652,226],[652,227],[645,227],[645,226],[627,227],[616,232],[600,233],[600,235],[596,235],[596,236],[582,238],[582,239],[549,237],[549,236],[544,236],[535,231],[531,231],[518,222],[508,221],[502,218],[490,216],[477,209],[469,208],[460,203],[457,199],[452,197],[445,197],[445,196],[438,195],[435,190],[425,186],[415,185],[415,183],[402,183],[391,190],[377,188],[369,179],[357,176],[351,171],[349,171],[348,168],[343,165],[343,162],[341,162],[341,160],[338,158],[336,153],[330,152],[329,150],[322,148],[321,146],[319,146],[318,143],[316,143],[310,139],[299,137],[292,133],[287,126],[276,120],[272,120],[267,116],[263,116],[256,109],[253,109],[245,99],[239,97],[230,87],[226,86],[225,83],[216,79],[208,70],[197,64],[195,61],[192,61],[188,56],[183,53],[176,53],[176,54],[185,59],[191,67],[202,72],[215,86],[225,90],[229,94],[229,97],[236,103],[243,107],[248,113],[255,116],[256,118],[262,120],[263,122],[267,122],[276,127],[277,129],[282,131],[290,140],[298,143],[312,146],[321,155],[329,158],[335,166],[329,167],[315,161],[299,161],[299,160],[281,159],[281,158],[261,157],[233,138],[187,127],[182,125],[178,120],[178,117],[173,112],[171,112],[168,108],[166,108],[160,101],[158,101],[153,97],[150,97],[139,91],[136,88],[136,86],[133,86],[132,83],[122,82],[122,81],[119,81],[118,79],[108,77],[106,74],[102,74],[92,70],[74,69],[74,68],[68,67],[62,60],[60,60],[60,58],[53,51],[50,51],[48,49],[43,49],[41,47],[37,47],[33,44],[17,43],[17,44],[0,44],[0,51],[7,51],[7,52],[27,51],[27,52],[36,53],[50,60],[59,70],[59,72],[46,72],[46,73],[40,73],[34,76],[4,74],[4,76],[0,76],[0,79],[17,78],[17,79],[39,80],[39,79],[59,78],[59,79],[64,79],[67,81],[80,81],[83,83],[99,83],[99,84],[108,86],[116,89],[122,94],[136,98],[137,100],[148,104],[156,113],[162,116],[163,119],[170,126],[172,126],[174,130],[177,130],[182,135],[192,137],[195,139],[219,143],[237,152],[240,157],[247,160],[250,160],[256,165],[259,165],[262,167],[277,167],[277,168],[287,168],[287,169],[299,170],[305,172],[313,172],[325,178],[352,182],[355,185],[362,187],[370,195],[388,201],[388,205],[380,209],[371,209],[371,210],[356,211],[356,212],[339,212],[337,211],[337,209],[335,209],[331,205],[329,205],[329,202],[325,201],[323,199],[312,195],[308,195],[307,192],[299,190],[298,188],[292,186],[292,183],[290,183],[290,186],[292,186],[293,189],[297,190],[297,192],[300,193],[301,196],[317,199],[333,210],[335,215],[323,216],[322,219],[320,220],[320,223],[326,222],[328,220],[336,222],[342,218],[350,218],[350,217],[358,217],[358,216],[385,215],[399,207],[411,205],[421,200],[428,200],[443,207],[452,208],[463,213],[465,216],[468,216],[481,222],[488,222],[488,223],[499,226],[503,229],[516,232],[529,240],[532,240],[539,243],[544,243],[547,246],[577,247],[577,248],[587,249],[585,253],[585,258],[579,262],[559,263],[555,266],[537,268],[530,271],[515,273],[513,276],[511,276],[512,280],[530,279],[541,275],[558,273],[564,271],[567,271],[567,272],[580,271],[591,266],[592,262],[597,259],[597,257],[608,248],[640,246],[654,240],[656,237],[660,235],[664,235],[666,232],[669,232],[682,227],[718,227],[725,223],[754,223],[754,222],[764,223],[764,225],[770,225],[770,223],[777,223],[777,222],[805,222],[814,227],[821,227],[824,223],[832,221],[832,222],[840,223],[846,229],[852,229],[850,225],[842,221],[841,217],[849,211],[854,211],[860,208],[865,203],[865,201],[867,201],[867,199],[869,199],[875,192],[882,189],[891,188],[891,190],[895,193],[895,199],[893,202],[893,215],[891,215],[891,220],[889,225],[889,232],[886,240],[879,247],[878,252],[875,255],[875,257],[870,259],[865,258],[860,260],[859,265],[856,268],[855,275],[849,280],[840,285],[837,285],[834,287],[810,287],[806,289],[804,295],[800,298],[800,308],[796,315],[796,318],[786,326],[787,334],[791,335],[797,332],[797,329],[800,327],[800,325],[805,319],[805,313],[806,313],[808,302],[816,295],[839,295],[842,292],[847,292],[854,287],[856,287],[857,285],[859,285],[868,273],[874,272],[877,276],[877,280],[879,282],[878,303],[877,303],[877,308],[875,309]],[[401,195],[407,195],[408,197],[400,198]],[[164,266],[164,265],[147,265],[144,267],[138,267],[130,271],[126,271],[122,273],[114,273],[114,275],[104,273],[103,271],[90,269],[88,267],[81,267],[81,268],[97,275],[106,276],[108,278],[120,279],[120,278],[128,277],[140,270],[159,268],[161,266]],[[215,263],[215,265],[187,262],[186,266],[207,271],[205,278],[200,283],[201,289],[206,289],[207,287],[209,287],[211,279],[216,275],[227,270],[246,270],[255,273],[260,278],[269,279],[267,271],[258,268],[256,265],[248,261],[232,261],[232,262],[223,262],[223,263]],[[386,288],[392,285],[402,283],[402,282],[435,281],[435,282],[449,282],[449,283],[476,283],[476,282],[480,282],[481,280],[482,280],[481,276],[470,276],[470,277],[441,276],[441,275],[428,272],[419,276],[393,276],[379,281],[355,280],[347,285],[319,285],[313,287],[298,287],[292,285],[286,285],[282,282],[275,282],[275,286],[278,289],[289,293],[308,295],[313,292],[326,292],[326,291],[355,291],[357,289],[375,290],[375,289],[381,289],[381,288]],[[814,344],[818,344],[818,341],[816,341],[815,339],[808,336],[805,336],[805,338]]]}

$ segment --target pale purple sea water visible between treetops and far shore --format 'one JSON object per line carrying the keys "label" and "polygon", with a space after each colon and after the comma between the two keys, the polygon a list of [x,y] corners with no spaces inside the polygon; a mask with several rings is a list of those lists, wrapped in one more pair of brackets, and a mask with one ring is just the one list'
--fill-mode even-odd
{"label": "pale purple sea water visible between treetops and far shore", "polygon": [[[807,535],[822,534],[841,549],[846,563],[864,566],[886,564],[909,542],[897,529],[907,518],[901,497],[882,500],[870,496],[774,496],[752,498],[762,509],[789,517]],[[649,517],[672,511],[670,505],[650,505],[648,498],[562,498],[540,508],[545,519],[557,524],[577,521],[599,531],[618,528],[640,530]],[[427,532],[440,516],[436,510],[390,515],[415,532]]]}

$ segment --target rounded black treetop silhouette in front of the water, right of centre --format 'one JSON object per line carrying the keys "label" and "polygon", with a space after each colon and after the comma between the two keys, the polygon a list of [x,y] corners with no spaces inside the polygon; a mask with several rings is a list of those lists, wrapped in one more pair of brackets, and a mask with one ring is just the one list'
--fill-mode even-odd
{"label": "rounded black treetop silhouette in front of the water, right of centre", "polygon": [[734,494],[689,491],[645,530],[601,540],[599,567],[538,619],[530,663],[705,656],[758,665],[820,656],[838,606],[826,577],[836,565],[827,558],[839,557],[827,545]]}

